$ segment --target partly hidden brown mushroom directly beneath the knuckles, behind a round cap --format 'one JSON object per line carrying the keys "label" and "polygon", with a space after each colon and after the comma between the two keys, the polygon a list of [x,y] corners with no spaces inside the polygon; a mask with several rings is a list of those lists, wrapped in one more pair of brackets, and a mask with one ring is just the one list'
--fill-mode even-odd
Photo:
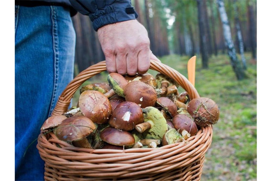
{"label": "partly hidden brown mushroom directly beneath the knuckles, behind a round cap", "polygon": [[131,82],[131,81],[141,81],[141,82],[144,82],[144,83],[147,83],[147,84],[151,85],[153,88],[157,87],[157,81],[156,81],[156,79],[153,77],[153,75],[151,75],[149,73],[145,73],[143,75],[136,74],[134,76],[126,75],[125,79],[128,82]]}

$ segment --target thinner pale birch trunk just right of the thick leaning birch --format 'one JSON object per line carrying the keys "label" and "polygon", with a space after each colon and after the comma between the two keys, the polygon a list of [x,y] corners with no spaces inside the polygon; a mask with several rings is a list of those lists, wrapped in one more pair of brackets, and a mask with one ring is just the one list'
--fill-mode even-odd
{"label": "thinner pale birch trunk just right of the thick leaning birch", "polygon": [[243,38],[242,38],[242,33],[241,33],[241,28],[240,28],[240,21],[238,17],[238,10],[236,6],[236,1],[233,3],[233,9],[234,9],[234,15],[235,15],[235,29],[237,33],[237,40],[239,44],[239,50],[240,50],[240,55],[242,59],[242,64],[243,64],[243,69],[246,69],[246,58],[244,54],[244,43],[243,43]]}

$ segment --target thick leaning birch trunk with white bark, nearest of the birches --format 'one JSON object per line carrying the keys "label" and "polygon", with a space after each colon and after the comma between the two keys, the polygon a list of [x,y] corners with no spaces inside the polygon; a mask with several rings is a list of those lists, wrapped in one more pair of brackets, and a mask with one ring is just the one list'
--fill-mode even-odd
{"label": "thick leaning birch trunk with white bark, nearest of the birches", "polygon": [[223,31],[224,31],[224,38],[226,47],[228,48],[228,56],[230,57],[230,62],[232,65],[232,68],[236,74],[236,77],[238,80],[242,80],[245,76],[245,72],[240,66],[240,63],[237,59],[236,52],[234,49],[233,41],[231,38],[231,31],[230,31],[230,25],[228,23],[228,17],[227,13],[225,11],[224,1],[223,0],[217,0],[218,4],[218,10],[220,13],[222,25],[223,25]]}

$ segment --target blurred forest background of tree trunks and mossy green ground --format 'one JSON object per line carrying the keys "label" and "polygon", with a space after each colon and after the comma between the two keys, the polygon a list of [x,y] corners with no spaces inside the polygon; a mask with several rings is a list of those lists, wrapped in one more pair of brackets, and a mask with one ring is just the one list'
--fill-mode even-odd
{"label": "blurred forest background of tree trunks and mossy green ground", "polygon": [[[256,0],[132,0],[132,5],[154,55],[184,76],[196,55],[196,89],[220,107],[202,180],[256,180]],[[77,75],[105,57],[89,17],[77,13],[73,23]],[[106,81],[102,72],[83,85]]]}

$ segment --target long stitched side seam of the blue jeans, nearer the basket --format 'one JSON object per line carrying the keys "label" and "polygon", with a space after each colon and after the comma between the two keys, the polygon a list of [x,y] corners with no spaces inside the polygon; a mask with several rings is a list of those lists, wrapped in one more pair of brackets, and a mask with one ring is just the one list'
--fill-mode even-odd
{"label": "long stitched side seam of the blue jeans, nearer the basket", "polygon": [[53,49],[54,49],[54,85],[51,99],[51,105],[49,109],[48,117],[54,109],[54,103],[56,99],[57,85],[58,85],[58,63],[59,63],[59,51],[58,51],[58,24],[57,24],[57,8],[50,6],[51,8],[51,20],[52,20],[52,35],[53,35]]}

